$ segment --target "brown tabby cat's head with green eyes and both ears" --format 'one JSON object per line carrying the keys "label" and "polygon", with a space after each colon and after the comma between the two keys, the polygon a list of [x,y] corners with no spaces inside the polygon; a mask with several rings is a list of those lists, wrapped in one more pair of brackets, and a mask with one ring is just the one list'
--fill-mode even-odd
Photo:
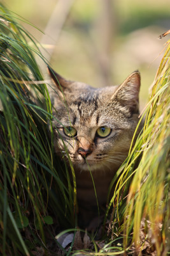
{"label": "brown tabby cat's head with green eyes and both ears", "polygon": [[[139,72],[120,86],[92,88],[49,68],[54,147],[77,170],[117,170],[129,152],[139,115]],[[88,163],[88,164],[87,164]]]}

